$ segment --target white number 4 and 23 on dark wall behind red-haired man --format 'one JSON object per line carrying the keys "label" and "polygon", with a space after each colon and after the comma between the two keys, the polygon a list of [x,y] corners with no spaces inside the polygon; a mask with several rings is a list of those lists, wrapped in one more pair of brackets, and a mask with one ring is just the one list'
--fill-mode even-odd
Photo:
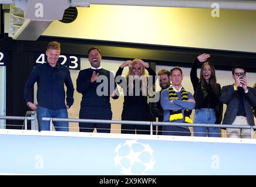
{"label": "white number 4 and 23 on dark wall behind red-haired man", "polygon": [[[38,53],[34,56],[34,65],[46,63],[47,56],[44,53]],[[80,70],[80,57],[61,54],[58,63],[66,65],[70,70]]]}

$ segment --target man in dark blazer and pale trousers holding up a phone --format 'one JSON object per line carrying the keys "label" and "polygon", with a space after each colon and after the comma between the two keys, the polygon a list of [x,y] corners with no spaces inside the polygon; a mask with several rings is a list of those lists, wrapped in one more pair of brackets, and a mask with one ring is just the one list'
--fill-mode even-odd
{"label": "man in dark blazer and pale trousers holding up a phone", "polygon": [[[245,68],[235,65],[232,69],[233,85],[223,86],[221,102],[227,105],[223,124],[254,125],[252,107],[256,106],[256,92],[247,86]],[[250,129],[227,128],[227,137],[250,138]]]}

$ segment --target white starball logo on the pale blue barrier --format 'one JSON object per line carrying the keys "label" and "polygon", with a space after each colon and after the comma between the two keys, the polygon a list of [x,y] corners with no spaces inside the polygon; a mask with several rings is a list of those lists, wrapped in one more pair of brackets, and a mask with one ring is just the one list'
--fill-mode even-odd
{"label": "white starball logo on the pale blue barrier", "polygon": [[124,175],[147,175],[153,170],[153,149],[137,140],[126,140],[114,150],[114,164]]}

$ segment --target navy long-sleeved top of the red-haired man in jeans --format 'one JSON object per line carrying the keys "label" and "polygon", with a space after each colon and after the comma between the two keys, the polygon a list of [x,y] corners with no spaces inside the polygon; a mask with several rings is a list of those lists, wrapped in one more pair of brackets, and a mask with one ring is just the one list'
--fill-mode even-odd
{"label": "navy long-sleeved top of the red-haired man in jeans", "polygon": [[25,84],[24,97],[26,102],[32,101],[31,89],[35,82],[38,84],[36,98],[39,106],[52,110],[66,108],[64,84],[67,87],[66,104],[69,107],[73,105],[74,87],[69,69],[65,65],[57,64],[54,68],[49,63],[36,65]]}

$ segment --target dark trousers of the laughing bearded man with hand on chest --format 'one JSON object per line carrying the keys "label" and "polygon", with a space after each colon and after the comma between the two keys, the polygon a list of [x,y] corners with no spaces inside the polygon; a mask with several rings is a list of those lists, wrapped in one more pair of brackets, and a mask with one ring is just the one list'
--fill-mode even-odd
{"label": "dark trousers of the laughing bearded man with hand on chest", "polygon": [[[106,119],[112,120],[110,108],[84,106],[80,108],[79,119]],[[79,123],[80,132],[92,133],[96,128],[97,133],[110,133],[110,123]]]}

